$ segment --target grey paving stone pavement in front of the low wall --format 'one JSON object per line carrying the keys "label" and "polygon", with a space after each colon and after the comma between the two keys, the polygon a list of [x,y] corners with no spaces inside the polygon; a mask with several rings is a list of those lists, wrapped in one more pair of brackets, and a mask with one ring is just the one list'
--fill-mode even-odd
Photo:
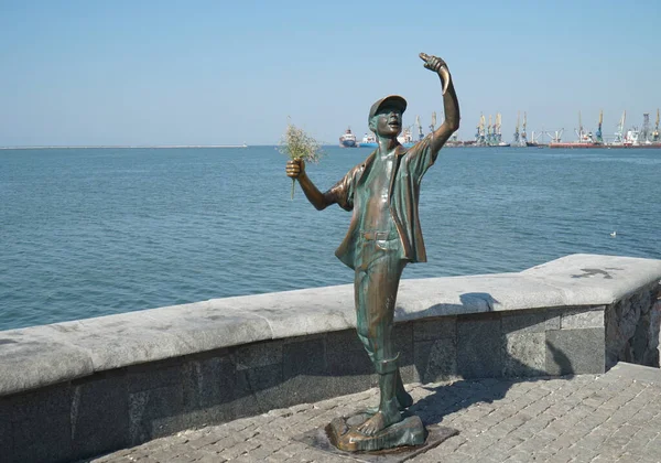
{"label": "grey paving stone pavement in front of the low wall", "polygon": [[[407,387],[425,424],[459,434],[414,463],[661,462],[661,370],[618,364],[604,375],[481,379]],[[348,463],[293,441],[377,400],[377,389],[303,403],[98,456],[95,463]]]}

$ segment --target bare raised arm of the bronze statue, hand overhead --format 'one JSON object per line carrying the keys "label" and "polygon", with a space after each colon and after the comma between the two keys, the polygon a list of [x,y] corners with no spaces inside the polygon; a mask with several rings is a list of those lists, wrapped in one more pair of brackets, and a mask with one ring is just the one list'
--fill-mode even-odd
{"label": "bare raised arm of the bronze statue, hand overhead", "polygon": [[457,100],[457,94],[455,93],[447,64],[440,57],[430,56],[426,53],[421,53],[420,58],[424,61],[424,67],[438,75],[443,88],[442,95],[445,121],[434,131],[432,151],[435,159],[441,148],[443,148],[449,137],[459,128],[459,101]]}

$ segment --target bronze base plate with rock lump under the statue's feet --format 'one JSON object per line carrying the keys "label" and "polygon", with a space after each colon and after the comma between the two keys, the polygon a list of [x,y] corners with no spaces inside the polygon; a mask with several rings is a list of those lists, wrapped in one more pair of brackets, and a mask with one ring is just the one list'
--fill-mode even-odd
{"label": "bronze base plate with rock lump under the statue's feet", "polygon": [[295,438],[318,450],[367,463],[401,463],[435,448],[458,433],[456,429],[432,424],[424,428],[416,416],[408,416],[372,437],[356,428],[370,414],[336,418],[325,429],[315,429]]}

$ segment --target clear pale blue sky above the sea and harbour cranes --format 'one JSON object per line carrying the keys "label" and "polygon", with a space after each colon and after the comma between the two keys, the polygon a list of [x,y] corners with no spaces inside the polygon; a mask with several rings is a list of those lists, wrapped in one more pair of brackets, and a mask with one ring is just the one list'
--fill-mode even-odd
{"label": "clear pale blue sky above the sea and harbour cranes", "polygon": [[[441,114],[442,56],[462,106],[529,131],[615,130],[661,107],[658,0],[0,0],[0,146],[275,144],[288,116],[335,143],[371,104]],[[574,139],[573,134],[565,139]]]}

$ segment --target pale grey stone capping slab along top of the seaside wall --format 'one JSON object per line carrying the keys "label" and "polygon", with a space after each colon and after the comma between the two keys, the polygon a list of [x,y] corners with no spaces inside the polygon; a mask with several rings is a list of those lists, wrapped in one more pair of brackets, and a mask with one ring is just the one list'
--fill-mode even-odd
{"label": "pale grey stone capping slab along top of the seaside wall", "polygon": [[[572,255],[520,273],[403,280],[395,321],[610,305],[657,284],[661,261]],[[350,284],[214,299],[0,332],[0,395],[129,365],[355,327]]]}

